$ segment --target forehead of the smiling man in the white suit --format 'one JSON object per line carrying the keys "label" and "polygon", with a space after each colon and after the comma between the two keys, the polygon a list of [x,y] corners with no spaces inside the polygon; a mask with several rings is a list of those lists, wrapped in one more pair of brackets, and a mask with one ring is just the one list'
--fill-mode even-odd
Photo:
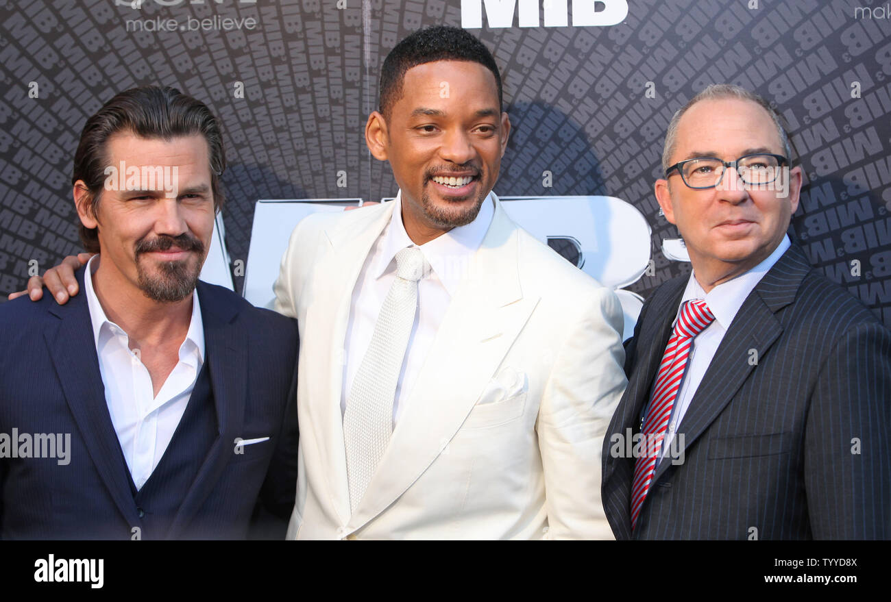
{"label": "forehead of the smiling man in the white suit", "polygon": [[405,71],[402,98],[394,104],[393,112],[407,117],[419,107],[497,110],[495,75],[475,61],[433,61],[416,65]]}

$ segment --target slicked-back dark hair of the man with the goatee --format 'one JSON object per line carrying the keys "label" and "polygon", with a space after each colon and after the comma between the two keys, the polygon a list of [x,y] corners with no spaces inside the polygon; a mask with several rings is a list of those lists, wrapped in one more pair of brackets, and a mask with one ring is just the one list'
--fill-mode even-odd
{"label": "slicked-back dark hair of the man with the goatee", "polygon": [[[86,183],[90,211],[96,209],[105,183],[107,142],[113,134],[136,134],[143,138],[170,141],[180,136],[200,134],[208,142],[210,188],[217,211],[225,201],[219,178],[225,170],[223,134],[217,118],[208,106],[176,88],[145,85],[117,94],[102,109],[86,120],[74,154],[71,185]],[[99,229],[80,224],[80,240],[91,253],[99,252]]]}

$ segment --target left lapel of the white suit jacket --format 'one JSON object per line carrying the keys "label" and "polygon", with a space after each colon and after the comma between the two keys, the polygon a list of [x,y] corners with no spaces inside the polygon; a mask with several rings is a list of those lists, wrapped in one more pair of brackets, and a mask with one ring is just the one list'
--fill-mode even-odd
{"label": "left lapel of the white suit jacket", "polygon": [[[301,354],[301,373],[306,374],[305,410],[320,444],[323,474],[329,485],[332,506],[342,523],[350,516],[347,455],[343,441],[340,389],[349,310],[353,289],[374,241],[389,223],[394,202],[360,209],[356,220],[325,232],[326,248],[315,268],[313,299],[307,305]],[[353,217],[353,216],[350,216]]]}

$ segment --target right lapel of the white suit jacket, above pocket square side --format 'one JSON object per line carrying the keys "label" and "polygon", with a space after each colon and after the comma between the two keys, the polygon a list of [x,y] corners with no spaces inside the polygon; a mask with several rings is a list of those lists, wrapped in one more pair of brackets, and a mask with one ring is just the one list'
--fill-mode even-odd
{"label": "right lapel of the white suit jacket, above pocket square side", "polygon": [[538,298],[520,290],[518,246],[518,228],[495,200],[492,224],[348,530],[379,515],[443,452],[535,309]]}

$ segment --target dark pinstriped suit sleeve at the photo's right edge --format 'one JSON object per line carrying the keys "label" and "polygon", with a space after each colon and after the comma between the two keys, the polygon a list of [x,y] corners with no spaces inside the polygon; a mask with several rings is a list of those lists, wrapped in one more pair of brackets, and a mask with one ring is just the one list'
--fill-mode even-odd
{"label": "dark pinstriped suit sleeve at the photo's right edge", "polygon": [[805,427],[815,539],[891,538],[891,331],[849,329],[830,351]]}

